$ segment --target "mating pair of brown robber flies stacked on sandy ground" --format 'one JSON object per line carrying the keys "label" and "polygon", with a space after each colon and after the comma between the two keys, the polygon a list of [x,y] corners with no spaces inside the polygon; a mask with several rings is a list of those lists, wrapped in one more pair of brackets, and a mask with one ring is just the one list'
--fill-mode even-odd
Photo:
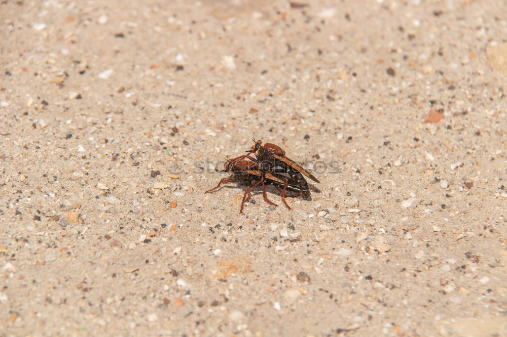
{"label": "mating pair of brown robber flies stacked on sandy ground", "polygon": [[[296,196],[310,196],[308,183],[303,175],[318,183],[315,176],[294,160],[286,157],[285,151],[279,146],[270,143],[263,146],[262,141],[253,140],[253,142],[255,145],[246,151],[248,154],[226,161],[222,172],[232,172],[231,176],[220,180],[216,187],[204,193],[211,192],[224,183],[238,182],[240,185],[246,185],[239,213],[243,213],[243,205],[247,196],[260,184],[262,184],[264,200],[274,206],[278,205],[267,198],[266,185],[273,185],[280,192],[280,197],[288,209],[291,207],[285,201],[286,191],[296,192]],[[251,157],[250,153],[255,154],[256,158]],[[249,159],[249,161],[245,159]]]}

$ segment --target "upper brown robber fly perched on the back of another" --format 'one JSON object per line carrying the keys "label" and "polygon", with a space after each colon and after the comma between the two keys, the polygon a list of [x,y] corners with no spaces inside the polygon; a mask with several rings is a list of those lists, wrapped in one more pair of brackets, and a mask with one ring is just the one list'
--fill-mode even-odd
{"label": "upper brown robber fly perched on the back of another", "polygon": [[307,176],[316,183],[320,183],[318,179],[305,170],[303,166],[285,156],[285,151],[278,145],[266,143],[263,146],[262,141],[256,141],[255,139],[253,139],[253,142],[255,145],[246,152],[255,154],[259,167],[262,171],[272,174],[287,173],[292,179],[298,182],[302,189],[308,191],[308,184],[306,183],[303,175]]}

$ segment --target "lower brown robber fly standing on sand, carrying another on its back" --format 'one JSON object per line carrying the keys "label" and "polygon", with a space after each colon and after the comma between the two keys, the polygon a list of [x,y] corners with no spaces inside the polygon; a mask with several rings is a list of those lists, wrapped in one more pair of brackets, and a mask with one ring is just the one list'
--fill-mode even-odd
{"label": "lower brown robber fly standing on sand, carrying another on its back", "polygon": [[[301,195],[309,195],[309,191],[302,188],[299,183],[292,178],[283,177],[280,178],[278,176],[272,175],[270,173],[265,173],[259,170],[259,165],[255,161],[242,160],[238,158],[245,158],[248,155],[240,156],[233,159],[228,159],[224,165],[224,170],[222,172],[232,172],[229,178],[223,178],[220,180],[219,184],[216,187],[207,190],[204,193],[211,192],[217,188],[219,188],[222,184],[226,183],[235,183],[238,182],[240,185],[246,186],[245,194],[243,195],[243,200],[241,201],[241,207],[239,209],[239,213],[243,213],[243,205],[245,200],[247,199],[247,195],[250,195],[250,192],[262,183],[263,186],[263,198],[264,200],[274,206],[278,206],[271,200],[269,200],[266,196],[265,185],[273,185],[279,192],[282,198],[283,203],[287,206],[288,209],[291,209],[287,202],[285,201],[285,191],[293,191],[297,192]],[[250,158],[253,159],[253,158]],[[253,159],[255,160],[255,159]]]}

